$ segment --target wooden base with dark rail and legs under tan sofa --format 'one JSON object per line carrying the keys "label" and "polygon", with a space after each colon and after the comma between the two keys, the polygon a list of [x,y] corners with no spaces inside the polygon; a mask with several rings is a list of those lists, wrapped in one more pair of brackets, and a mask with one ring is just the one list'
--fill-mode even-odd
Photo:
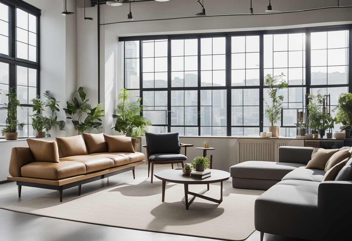
{"label": "wooden base with dark rail and legs under tan sofa", "polygon": [[[143,163],[144,163],[144,161],[131,163],[132,165],[133,164],[134,165],[133,166],[131,164],[130,165],[126,165],[126,166],[130,166],[130,167],[126,167],[126,168],[120,169],[118,171],[105,173],[105,174],[98,175],[98,176],[95,176],[95,177],[91,177],[91,178],[87,178],[87,179],[83,179],[83,180],[79,180],[79,181],[74,181],[72,183],[68,183],[68,184],[64,184],[64,185],[49,185],[49,184],[42,184],[42,183],[30,183],[30,182],[27,182],[27,181],[18,181],[17,180],[16,184],[17,184],[17,188],[18,188],[18,197],[21,197],[22,186],[39,187],[39,188],[43,188],[43,189],[50,189],[50,190],[59,191],[60,202],[62,202],[62,192],[63,192],[63,190],[69,189],[71,187],[78,186],[78,196],[80,196],[81,195],[81,186],[82,186],[82,184],[87,184],[87,183],[90,183],[92,181],[101,180],[101,179],[104,179],[104,178],[107,178],[107,177],[111,177],[111,176],[116,175],[116,174],[128,172],[128,171],[132,171],[133,179],[135,179],[136,176],[135,176],[135,173],[134,173],[134,168],[135,168],[135,166],[141,165]],[[20,177],[16,178],[16,179],[20,179]]]}

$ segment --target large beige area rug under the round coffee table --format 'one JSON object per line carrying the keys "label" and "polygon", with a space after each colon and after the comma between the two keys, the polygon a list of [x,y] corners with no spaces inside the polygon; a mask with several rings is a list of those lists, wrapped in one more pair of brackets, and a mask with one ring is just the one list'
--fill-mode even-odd
{"label": "large beige area rug under the round coffee table", "polygon": [[[221,204],[196,198],[189,210],[184,206],[183,184],[166,183],[162,203],[162,182],[137,178],[128,183],[66,198],[58,202],[52,192],[3,209],[46,217],[120,228],[170,234],[244,240],[254,229],[254,200],[264,191],[234,189],[224,182]],[[189,191],[220,198],[220,185],[190,185]],[[191,195],[189,198],[193,197]]]}

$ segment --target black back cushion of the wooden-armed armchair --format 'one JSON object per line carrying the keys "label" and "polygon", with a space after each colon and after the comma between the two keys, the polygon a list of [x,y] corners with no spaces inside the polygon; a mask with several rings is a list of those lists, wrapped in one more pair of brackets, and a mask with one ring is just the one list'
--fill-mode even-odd
{"label": "black back cushion of the wooden-armed armchair", "polygon": [[145,133],[149,155],[159,153],[175,153],[180,154],[180,141],[178,140],[178,132],[170,133]]}

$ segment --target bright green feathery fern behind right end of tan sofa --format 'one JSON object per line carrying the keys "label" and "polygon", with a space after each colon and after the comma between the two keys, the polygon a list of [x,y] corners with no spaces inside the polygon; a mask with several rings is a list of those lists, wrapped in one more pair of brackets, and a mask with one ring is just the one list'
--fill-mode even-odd
{"label": "bright green feathery fern behind right end of tan sofa", "polygon": [[148,131],[147,125],[152,123],[140,115],[143,105],[140,104],[142,98],[131,101],[134,93],[128,89],[122,88],[119,91],[118,104],[116,106],[117,115],[112,117],[116,119],[115,131],[123,132],[124,135],[137,138],[143,136]]}

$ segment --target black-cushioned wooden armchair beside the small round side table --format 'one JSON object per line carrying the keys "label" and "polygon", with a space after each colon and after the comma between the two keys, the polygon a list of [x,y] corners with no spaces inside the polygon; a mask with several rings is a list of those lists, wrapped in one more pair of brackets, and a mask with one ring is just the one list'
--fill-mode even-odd
{"label": "black-cushioned wooden armchair beside the small round side table", "polygon": [[[153,183],[154,164],[171,164],[174,169],[174,163],[181,163],[187,160],[187,147],[193,147],[193,144],[182,144],[178,139],[178,132],[171,133],[145,133],[146,156],[148,161],[148,177],[151,172],[151,183]],[[184,155],[181,154],[181,147],[184,147]]]}

